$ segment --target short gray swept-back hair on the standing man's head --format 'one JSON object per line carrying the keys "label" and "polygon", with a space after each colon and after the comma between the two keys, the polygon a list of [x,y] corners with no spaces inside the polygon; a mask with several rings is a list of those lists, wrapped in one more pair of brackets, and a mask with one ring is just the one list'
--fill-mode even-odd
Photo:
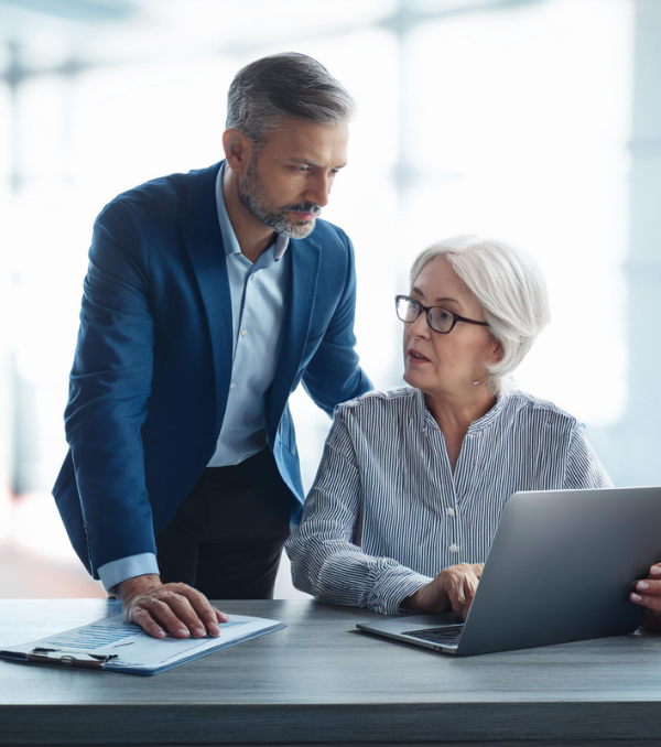
{"label": "short gray swept-back hair on the standing man's head", "polygon": [[259,149],[286,117],[322,124],[346,121],[354,99],[316,59],[296,52],[262,57],[240,69],[227,94],[227,122]]}

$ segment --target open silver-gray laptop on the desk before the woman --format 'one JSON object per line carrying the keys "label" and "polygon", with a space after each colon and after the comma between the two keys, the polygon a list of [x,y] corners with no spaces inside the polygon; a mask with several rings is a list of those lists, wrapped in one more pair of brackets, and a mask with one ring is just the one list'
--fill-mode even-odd
{"label": "open silver-gray laptop on the desk before the woman", "polygon": [[465,624],[444,613],[357,627],[457,656],[625,636],[644,614],[629,593],[659,561],[659,487],[517,492]]}

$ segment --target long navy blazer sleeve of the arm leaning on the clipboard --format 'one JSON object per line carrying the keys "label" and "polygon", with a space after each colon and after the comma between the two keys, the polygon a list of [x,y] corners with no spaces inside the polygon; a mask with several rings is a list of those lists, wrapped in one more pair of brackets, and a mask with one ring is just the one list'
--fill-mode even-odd
{"label": "long navy blazer sleeve of the arm leaning on the clipboard", "polygon": [[93,573],[155,553],[141,427],[151,392],[154,322],[148,245],[121,202],[95,223],[65,411]]}

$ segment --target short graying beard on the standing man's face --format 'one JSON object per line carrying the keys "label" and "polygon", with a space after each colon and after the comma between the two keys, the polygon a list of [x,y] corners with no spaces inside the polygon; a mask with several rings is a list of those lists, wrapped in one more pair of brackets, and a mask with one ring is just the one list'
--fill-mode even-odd
{"label": "short graying beard on the standing man's face", "polygon": [[250,160],[246,173],[239,174],[239,199],[243,207],[260,223],[289,239],[304,239],[314,230],[315,220],[314,218],[312,220],[296,220],[291,224],[286,219],[288,213],[296,210],[314,213],[315,216],[318,216],[322,212],[315,203],[289,205],[288,207],[271,205],[264,195],[264,187],[257,165],[257,155]]}

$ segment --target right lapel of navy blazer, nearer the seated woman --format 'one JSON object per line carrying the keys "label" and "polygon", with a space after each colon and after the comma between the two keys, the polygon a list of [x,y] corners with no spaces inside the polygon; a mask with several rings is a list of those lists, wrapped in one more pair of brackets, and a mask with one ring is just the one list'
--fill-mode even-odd
{"label": "right lapel of navy blazer, nearer the seated woman", "polygon": [[322,248],[311,238],[290,239],[288,252],[291,252],[292,274],[282,328],[278,371],[267,404],[267,436],[271,446],[280,415],[290,396],[290,388],[299,374],[299,365],[307,342]]}

